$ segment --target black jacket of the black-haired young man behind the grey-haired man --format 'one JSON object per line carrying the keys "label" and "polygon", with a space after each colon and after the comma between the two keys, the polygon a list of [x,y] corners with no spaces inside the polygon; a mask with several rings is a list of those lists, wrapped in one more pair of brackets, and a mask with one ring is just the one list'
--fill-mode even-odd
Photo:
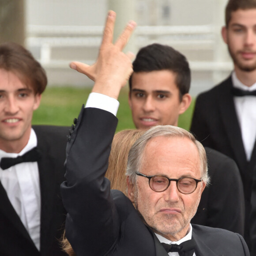
{"label": "black jacket of the black-haired young man behind the grey-haired man", "polygon": [[191,223],[244,235],[245,200],[238,167],[225,154],[209,147],[205,147],[205,151],[211,180]]}

